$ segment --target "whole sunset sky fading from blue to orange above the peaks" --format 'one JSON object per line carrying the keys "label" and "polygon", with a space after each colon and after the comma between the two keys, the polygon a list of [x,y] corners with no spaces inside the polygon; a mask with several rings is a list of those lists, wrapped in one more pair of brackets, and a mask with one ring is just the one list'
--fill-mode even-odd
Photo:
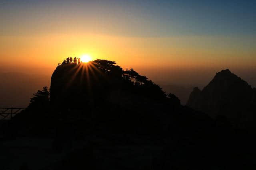
{"label": "whole sunset sky fading from blue to orange above the peaks", "polygon": [[147,76],[152,67],[256,73],[255,0],[1,0],[0,23],[2,68],[50,74],[89,54]]}

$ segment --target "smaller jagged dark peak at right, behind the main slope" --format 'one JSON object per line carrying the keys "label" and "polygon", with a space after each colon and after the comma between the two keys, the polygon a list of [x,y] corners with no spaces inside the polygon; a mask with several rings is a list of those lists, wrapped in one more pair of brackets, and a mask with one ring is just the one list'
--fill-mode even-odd
{"label": "smaller jagged dark peak at right, behind the main slope", "polygon": [[230,70],[222,70],[202,91],[194,88],[186,105],[211,117],[223,115],[239,126],[252,125],[256,113],[256,89]]}

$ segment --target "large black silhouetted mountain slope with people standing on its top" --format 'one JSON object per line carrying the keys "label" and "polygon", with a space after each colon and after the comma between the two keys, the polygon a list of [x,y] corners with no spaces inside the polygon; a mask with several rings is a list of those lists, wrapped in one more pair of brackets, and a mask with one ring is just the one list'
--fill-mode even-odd
{"label": "large black silhouetted mountain slope with people standing on its top", "polygon": [[[254,140],[248,134],[168,96],[145,76],[124,71],[110,61],[59,66],[52,75],[49,104],[31,103],[8,123],[5,140],[52,141],[51,145],[38,142],[38,148],[44,148],[38,154],[45,155],[47,161],[36,160],[34,153],[35,160],[16,161],[22,168],[254,167]],[[21,160],[29,150],[22,152]],[[13,154],[5,155],[9,157],[2,165],[8,167]]]}

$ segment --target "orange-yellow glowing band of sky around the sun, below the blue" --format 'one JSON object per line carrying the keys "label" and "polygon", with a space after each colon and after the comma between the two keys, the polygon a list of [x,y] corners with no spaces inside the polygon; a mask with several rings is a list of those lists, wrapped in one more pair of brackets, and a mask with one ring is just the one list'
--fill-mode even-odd
{"label": "orange-yellow glowing band of sky around the sun, below the blue", "polygon": [[[0,65],[6,72],[12,65],[19,71],[51,75],[58,63],[70,56],[80,57],[84,63],[95,59],[116,61],[123,69],[137,71],[205,67],[234,70],[253,68],[256,62],[253,50],[225,46],[232,39],[224,37],[122,37],[80,32],[0,37],[0,57],[6,59]],[[151,75],[150,71],[143,74]]]}

